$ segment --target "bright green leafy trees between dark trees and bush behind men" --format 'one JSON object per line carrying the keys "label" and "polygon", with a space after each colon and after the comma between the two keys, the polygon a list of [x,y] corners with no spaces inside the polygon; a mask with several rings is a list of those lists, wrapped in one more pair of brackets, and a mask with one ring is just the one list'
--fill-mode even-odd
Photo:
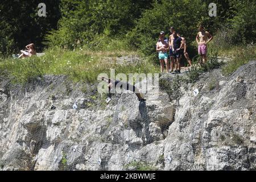
{"label": "bright green leafy trees between dark trees and bush behind men", "polygon": [[59,29],[47,35],[47,40],[50,46],[73,48],[93,40],[95,44],[95,39],[100,42],[105,37],[108,42],[109,36],[121,39],[135,26],[142,11],[150,7],[150,0],[62,0]]}

